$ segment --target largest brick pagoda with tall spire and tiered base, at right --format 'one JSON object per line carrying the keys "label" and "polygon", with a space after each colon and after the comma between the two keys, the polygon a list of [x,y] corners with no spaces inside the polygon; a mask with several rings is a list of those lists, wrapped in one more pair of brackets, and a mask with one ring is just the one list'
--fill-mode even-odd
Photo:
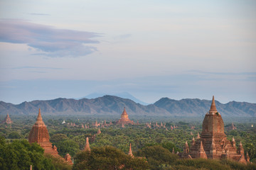
{"label": "largest brick pagoda with tall spire and tiered base, at right", "polygon": [[206,113],[203,120],[203,130],[198,133],[196,140],[193,138],[191,147],[186,142],[184,151],[180,154],[182,158],[203,158],[203,159],[231,159],[241,163],[249,162],[245,158],[242,143],[238,149],[235,147],[235,139],[230,142],[224,133],[223,119],[218,113],[214,96],[210,111]]}

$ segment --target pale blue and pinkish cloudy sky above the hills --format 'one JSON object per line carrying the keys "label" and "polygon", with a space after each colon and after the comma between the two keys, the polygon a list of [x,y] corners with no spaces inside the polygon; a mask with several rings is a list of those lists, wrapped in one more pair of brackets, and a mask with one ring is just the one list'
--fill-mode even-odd
{"label": "pale blue and pinkish cloudy sky above the hills", "polygon": [[0,101],[256,103],[256,1],[0,1]]}

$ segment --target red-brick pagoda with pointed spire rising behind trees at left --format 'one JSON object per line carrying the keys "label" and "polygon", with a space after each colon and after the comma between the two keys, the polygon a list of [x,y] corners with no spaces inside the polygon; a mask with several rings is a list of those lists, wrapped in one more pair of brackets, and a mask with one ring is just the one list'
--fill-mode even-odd
{"label": "red-brick pagoda with pointed spire rising behind trees at left", "polygon": [[46,125],[43,123],[40,108],[36,123],[33,125],[31,132],[29,133],[28,142],[37,142],[41,147],[43,147],[45,154],[52,154],[53,156],[60,157],[58,155],[57,147],[52,146],[52,143],[50,142],[50,136]]}

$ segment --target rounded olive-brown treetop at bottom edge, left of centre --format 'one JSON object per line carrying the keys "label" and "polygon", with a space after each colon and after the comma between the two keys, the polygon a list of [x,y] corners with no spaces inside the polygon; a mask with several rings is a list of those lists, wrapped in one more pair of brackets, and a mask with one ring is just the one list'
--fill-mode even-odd
{"label": "rounded olive-brown treetop at bottom edge, left of centre", "polygon": [[97,147],[91,152],[78,152],[73,169],[148,169],[143,158],[132,158],[115,147]]}

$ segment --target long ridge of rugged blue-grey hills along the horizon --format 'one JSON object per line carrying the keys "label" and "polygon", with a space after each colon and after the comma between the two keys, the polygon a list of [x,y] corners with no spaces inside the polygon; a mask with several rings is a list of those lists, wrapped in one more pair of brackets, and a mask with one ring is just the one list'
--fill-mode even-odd
{"label": "long ridge of rugged blue-grey hills along the horizon", "polygon": [[[38,108],[48,115],[120,115],[124,109],[129,115],[179,115],[204,116],[210,109],[211,101],[200,99],[182,99],[176,101],[161,98],[154,104],[143,106],[127,98],[102,96],[99,98],[82,98],[79,100],[56,98],[48,101],[23,102],[18,105],[0,101],[0,114],[35,115]],[[226,104],[215,101],[221,115],[256,116],[256,104],[231,101]]]}

